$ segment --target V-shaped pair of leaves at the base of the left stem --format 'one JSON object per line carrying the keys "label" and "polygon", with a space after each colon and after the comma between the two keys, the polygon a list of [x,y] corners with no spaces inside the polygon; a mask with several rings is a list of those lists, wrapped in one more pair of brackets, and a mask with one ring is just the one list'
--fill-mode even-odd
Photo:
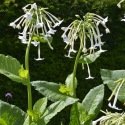
{"label": "V-shaped pair of leaves at the base of the left stem", "polygon": [[[61,110],[63,110],[66,106],[73,104],[74,101],[72,99],[61,100],[52,103],[47,107],[47,98],[39,99],[35,104],[32,112],[28,112],[29,115],[32,116],[33,122],[31,125],[47,125],[50,120],[57,115]],[[25,120],[23,125],[29,124],[29,117]]]}

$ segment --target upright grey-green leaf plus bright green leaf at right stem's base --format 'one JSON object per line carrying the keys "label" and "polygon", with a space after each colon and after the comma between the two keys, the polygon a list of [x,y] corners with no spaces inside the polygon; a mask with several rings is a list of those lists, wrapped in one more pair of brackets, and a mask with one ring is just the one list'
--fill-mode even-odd
{"label": "upright grey-green leaf plus bright green leaf at right stem's base", "polygon": [[91,89],[82,103],[73,104],[70,125],[88,125],[98,115],[104,97],[104,86]]}

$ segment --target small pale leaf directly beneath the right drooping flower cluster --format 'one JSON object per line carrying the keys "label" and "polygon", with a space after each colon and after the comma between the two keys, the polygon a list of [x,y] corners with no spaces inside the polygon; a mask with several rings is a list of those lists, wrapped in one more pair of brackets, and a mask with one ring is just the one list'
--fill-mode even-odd
{"label": "small pale leaf directly beneath the right drooping flower cluster", "polygon": [[83,63],[83,64],[90,64],[90,63],[93,63],[99,56],[100,56],[100,52],[95,52],[93,54],[89,54],[87,56],[85,55],[82,55],[80,58],[79,58],[79,63]]}

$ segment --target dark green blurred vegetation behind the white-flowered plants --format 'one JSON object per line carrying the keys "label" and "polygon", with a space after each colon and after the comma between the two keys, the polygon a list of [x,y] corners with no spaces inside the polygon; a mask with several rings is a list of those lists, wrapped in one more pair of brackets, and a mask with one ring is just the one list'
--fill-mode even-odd
{"label": "dark green blurred vegetation behind the white-flowered plants", "polygon": [[[37,5],[48,7],[49,11],[60,19],[64,19],[61,26],[67,26],[75,19],[75,14],[83,16],[87,12],[93,12],[102,17],[109,17],[107,26],[111,33],[103,35],[105,41],[103,53],[96,62],[90,65],[94,80],[86,80],[87,69],[81,70],[79,65],[77,70],[78,88],[77,96],[82,100],[87,92],[94,86],[102,84],[100,69],[106,68],[111,70],[125,69],[125,22],[121,22],[124,17],[125,5],[122,9],[117,7],[119,0],[0,0],[0,53],[11,55],[24,63],[25,45],[18,40],[18,31],[9,27],[9,23],[23,14],[22,7],[28,3],[36,2]],[[102,29],[103,31],[103,29]],[[30,52],[30,73],[31,80],[47,80],[57,83],[64,83],[68,74],[73,70],[74,59],[64,57],[67,53],[64,50],[65,43],[61,39],[62,31],[60,27],[53,38],[54,50],[50,50],[46,44],[41,45],[41,55],[44,61],[35,61],[37,48],[31,47]],[[15,104],[26,111],[27,109],[27,91],[26,87],[14,83],[0,75],[0,99],[7,101],[5,93],[11,92],[13,95],[11,104]],[[103,109],[107,105],[107,97],[110,91],[106,88],[106,95]],[[42,95],[33,89],[33,102],[41,98]],[[59,113],[49,125],[58,125],[63,121],[68,125],[70,107]]]}

